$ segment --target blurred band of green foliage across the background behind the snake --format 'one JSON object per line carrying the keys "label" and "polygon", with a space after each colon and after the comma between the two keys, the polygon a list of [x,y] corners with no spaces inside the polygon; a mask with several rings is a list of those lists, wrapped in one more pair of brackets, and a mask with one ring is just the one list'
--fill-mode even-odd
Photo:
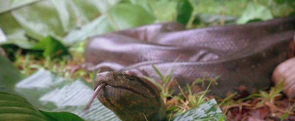
{"label": "blurred band of green foliage across the background behind the snake", "polygon": [[0,13],[0,28],[9,39],[6,43],[22,48],[34,46],[29,40],[49,35],[73,45],[94,35],[155,22],[178,21],[196,28],[264,21],[294,14],[294,6],[293,0],[45,0]]}

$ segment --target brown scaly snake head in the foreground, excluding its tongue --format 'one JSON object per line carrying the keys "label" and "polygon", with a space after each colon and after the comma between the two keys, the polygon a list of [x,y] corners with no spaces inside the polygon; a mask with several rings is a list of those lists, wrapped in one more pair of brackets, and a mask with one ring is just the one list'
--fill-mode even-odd
{"label": "brown scaly snake head in the foreground, excluding its tongue", "polygon": [[[165,105],[157,87],[131,71],[106,71],[96,75],[94,89],[106,83],[97,94],[99,101],[123,121],[159,121],[166,117]],[[143,115],[144,114],[144,115]]]}

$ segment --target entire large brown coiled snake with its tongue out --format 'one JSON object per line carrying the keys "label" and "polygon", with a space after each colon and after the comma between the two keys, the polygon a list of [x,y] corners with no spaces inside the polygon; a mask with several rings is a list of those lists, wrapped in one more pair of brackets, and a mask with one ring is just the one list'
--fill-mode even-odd
{"label": "entire large brown coiled snake with its tongue out", "polygon": [[[265,90],[276,66],[294,57],[294,34],[291,16],[189,30],[175,22],[156,23],[94,36],[85,47],[86,67],[101,73],[91,100],[97,97],[123,121],[154,121],[166,120],[165,105],[145,77],[162,82],[158,72],[181,87],[204,74],[218,77],[208,94],[221,98],[239,86]],[[171,88],[179,92],[177,85]]]}

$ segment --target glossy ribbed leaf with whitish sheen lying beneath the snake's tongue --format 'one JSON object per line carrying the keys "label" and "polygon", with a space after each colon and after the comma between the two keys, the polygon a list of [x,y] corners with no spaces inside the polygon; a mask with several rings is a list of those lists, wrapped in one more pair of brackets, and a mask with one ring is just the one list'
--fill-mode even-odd
{"label": "glossy ribbed leaf with whitish sheen lying beneath the snake's tongue", "polygon": [[88,121],[119,121],[117,116],[97,99],[86,113],[84,109],[93,94],[93,87],[80,79],[65,80],[50,71],[39,69],[17,82],[14,87],[17,93],[40,110],[70,112]]}

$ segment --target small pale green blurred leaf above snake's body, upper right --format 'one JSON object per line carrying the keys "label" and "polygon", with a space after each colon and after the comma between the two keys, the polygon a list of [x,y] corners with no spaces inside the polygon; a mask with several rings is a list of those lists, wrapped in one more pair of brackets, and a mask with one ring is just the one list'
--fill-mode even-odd
{"label": "small pale green blurred leaf above snake's body, upper right", "polygon": [[242,16],[237,20],[238,24],[245,24],[251,20],[270,20],[273,19],[271,11],[263,5],[249,3]]}

